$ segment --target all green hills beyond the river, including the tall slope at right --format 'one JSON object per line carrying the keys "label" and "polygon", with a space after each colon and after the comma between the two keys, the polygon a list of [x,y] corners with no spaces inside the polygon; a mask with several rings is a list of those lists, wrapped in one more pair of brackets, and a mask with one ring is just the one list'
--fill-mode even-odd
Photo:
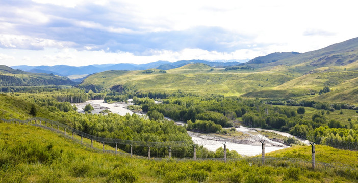
{"label": "all green hills beyond the river, including the tall slope at right", "polygon": [[[127,85],[135,90],[221,94],[264,99],[301,99],[357,103],[357,88],[346,81],[358,77],[358,38],[306,53],[272,53],[231,68],[188,64],[160,73],[105,71],[79,86],[102,90]],[[328,86],[333,90],[318,96]],[[308,95],[316,93],[316,95]]]}

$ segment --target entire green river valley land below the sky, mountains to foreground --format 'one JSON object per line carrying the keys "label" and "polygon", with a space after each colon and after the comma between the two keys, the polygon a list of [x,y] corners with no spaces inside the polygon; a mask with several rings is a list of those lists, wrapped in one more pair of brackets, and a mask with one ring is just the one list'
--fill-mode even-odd
{"label": "entire green river valley land below the sky, mountains to foreground", "polygon": [[0,180],[355,182],[356,50],[72,67],[72,81],[52,73],[66,66],[1,66]]}

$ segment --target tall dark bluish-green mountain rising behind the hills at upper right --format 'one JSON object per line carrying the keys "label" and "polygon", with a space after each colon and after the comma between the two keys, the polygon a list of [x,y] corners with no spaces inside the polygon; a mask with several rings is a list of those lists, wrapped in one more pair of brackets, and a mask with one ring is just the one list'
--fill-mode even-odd
{"label": "tall dark bluish-green mountain rising behind the hills at upper right", "polygon": [[358,60],[358,38],[336,43],[315,51],[301,54],[291,53],[292,55],[289,53],[272,53],[264,57],[254,58],[243,65],[259,70],[277,69],[277,66],[286,66],[300,74],[322,67],[339,68]]}

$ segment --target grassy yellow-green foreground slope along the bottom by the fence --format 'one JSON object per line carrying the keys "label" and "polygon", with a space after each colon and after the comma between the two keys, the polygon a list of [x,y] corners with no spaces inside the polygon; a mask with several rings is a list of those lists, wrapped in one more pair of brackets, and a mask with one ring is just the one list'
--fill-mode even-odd
{"label": "grassy yellow-green foreground slope along the bottom by the fence", "polygon": [[[36,134],[36,135],[35,135]],[[3,182],[355,182],[355,170],[317,169],[277,161],[176,161],[98,153],[49,130],[0,123],[0,180]],[[317,159],[354,166],[354,152],[317,146]],[[321,150],[322,149],[322,150]],[[309,147],[269,154],[309,160]],[[324,155],[323,155],[324,153]],[[334,156],[341,154],[342,156]],[[322,158],[321,158],[322,157]],[[350,160],[347,161],[347,160]],[[355,165],[356,166],[356,165]]]}

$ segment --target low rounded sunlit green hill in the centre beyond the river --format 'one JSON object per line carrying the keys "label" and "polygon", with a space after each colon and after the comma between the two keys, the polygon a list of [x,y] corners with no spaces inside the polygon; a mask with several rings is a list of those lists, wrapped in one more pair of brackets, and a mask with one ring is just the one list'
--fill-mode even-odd
{"label": "low rounded sunlit green hill in the centre beyond the river", "polygon": [[167,70],[166,73],[153,70],[155,72],[150,74],[144,74],[143,71],[106,71],[89,76],[79,86],[105,89],[114,85],[129,85],[143,92],[174,92],[181,89],[198,94],[233,96],[272,88],[294,78],[281,73],[228,72],[204,64],[188,64]]}

